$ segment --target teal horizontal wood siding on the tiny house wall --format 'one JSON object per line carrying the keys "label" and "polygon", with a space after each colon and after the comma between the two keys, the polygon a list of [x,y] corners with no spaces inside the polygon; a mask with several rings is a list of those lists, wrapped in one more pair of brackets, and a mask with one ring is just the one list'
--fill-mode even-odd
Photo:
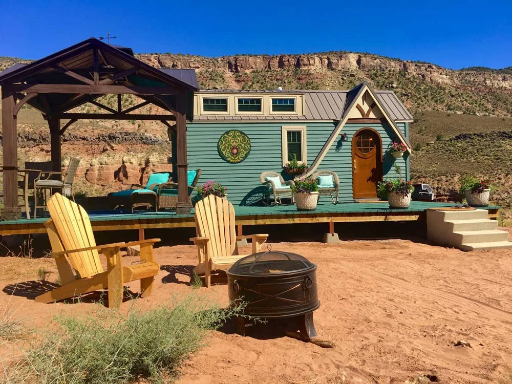
{"label": "teal horizontal wood siding on the tiny house wall", "polygon": [[[202,169],[199,184],[214,180],[225,185],[228,190],[228,199],[235,205],[254,203],[263,196],[264,187],[260,183],[260,174],[271,170],[281,173],[286,179],[291,177],[282,172],[281,129],[284,125],[307,127],[307,155],[308,164],[312,164],[318,152],[334,130],[336,123],[283,121],[263,122],[211,122],[187,123],[187,156],[189,169]],[[338,137],[318,169],[329,169],[336,172],[340,178],[340,201],[353,201],[352,198],[352,135],[361,127],[370,126],[379,132],[383,141],[383,151],[395,137],[389,125],[381,124],[346,124],[340,132],[347,133],[348,141],[341,141]],[[406,127],[399,124],[402,132]],[[241,163],[231,164],[223,160],[218,151],[217,143],[220,136],[229,130],[245,132],[251,140],[251,152],[247,159]],[[392,138],[390,138],[390,135]],[[394,158],[384,159],[383,169],[385,179],[398,177],[393,168]],[[402,177],[406,177],[406,160],[396,161],[402,168]],[[263,188],[262,188],[263,187]],[[329,197],[322,197],[323,200]],[[327,200],[325,200],[327,201]]]}

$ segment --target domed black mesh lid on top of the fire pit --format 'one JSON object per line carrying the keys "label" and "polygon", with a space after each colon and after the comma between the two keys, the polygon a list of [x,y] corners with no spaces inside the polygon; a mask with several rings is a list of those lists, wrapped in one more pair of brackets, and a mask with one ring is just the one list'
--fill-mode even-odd
{"label": "domed black mesh lid on top of the fire pit", "polygon": [[229,273],[241,275],[273,275],[276,273],[298,272],[314,267],[300,254],[272,251],[253,253],[240,259],[229,268]]}

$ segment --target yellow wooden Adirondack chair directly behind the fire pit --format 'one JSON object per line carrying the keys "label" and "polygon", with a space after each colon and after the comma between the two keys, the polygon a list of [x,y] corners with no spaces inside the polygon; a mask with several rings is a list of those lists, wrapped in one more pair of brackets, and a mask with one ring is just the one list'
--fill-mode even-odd
{"label": "yellow wooden Adirondack chair directly behind the fire pit", "polygon": [[199,257],[194,272],[204,274],[206,287],[210,286],[211,271],[229,269],[237,260],[246,256],[238,254],[237,241],[252,239],[252,253],[256,253],[268,237],[268,234],[237,237],[234,232],[233,204],[214,195],[196,204],[194,219],[197,237],[190,241],[197,245]]}

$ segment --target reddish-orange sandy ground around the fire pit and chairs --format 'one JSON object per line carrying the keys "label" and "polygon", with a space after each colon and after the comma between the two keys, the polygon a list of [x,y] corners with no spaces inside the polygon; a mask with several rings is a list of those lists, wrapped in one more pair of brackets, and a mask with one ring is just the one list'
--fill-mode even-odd
{"label": "reddish-orange sandy ground around the fire pit and chairs", "polygon": [[[512,250],[462,252],[406,240],[276,243],[272,249],[318,265],[322,305],[314,322],[335,348],[284,337],[273,325],[254,328],[252,337],[228,326],[211,332],[178,383],[512,382]],[[136,300],[143,308],[193,290],[193,246],[155,253],[162,268],[153,296]],[[0,258],[0,308],[17,308],[29,327],[47,324],[57,312],[94,310],[87,301],[34,303],[41,266],[55,271],[51,259]],[[15,282],[25,283],[9,295]],[[226,285],[197,292],[228,302]],[[455,346],[458,340],[471,347]],[[422,375],[434,376],[418,379]]]}

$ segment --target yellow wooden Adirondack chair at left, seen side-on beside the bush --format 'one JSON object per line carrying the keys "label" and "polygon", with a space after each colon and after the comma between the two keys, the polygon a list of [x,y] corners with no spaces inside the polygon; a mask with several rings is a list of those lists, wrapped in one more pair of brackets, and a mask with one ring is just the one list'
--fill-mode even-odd
{"label": "yellow wooden Adirondack chair at left, seen side-on beside the bush", "polygon": [[[153,261],[153,244],[160,239],[133,243],[96,245],[87,212],[60,194],[48,201],[51,219],[45,227],[52,245],[62,286],[35,298],[39,303],[52,303],[99,289],[109,290],[109,307],[119,307],[124,283],[140,280],[142,297],[149,296],[154,276],[160,265]],[[140,245],[140,263],[123,266],[121,248]],[[103,270],[99,253],[106,256]]]}

